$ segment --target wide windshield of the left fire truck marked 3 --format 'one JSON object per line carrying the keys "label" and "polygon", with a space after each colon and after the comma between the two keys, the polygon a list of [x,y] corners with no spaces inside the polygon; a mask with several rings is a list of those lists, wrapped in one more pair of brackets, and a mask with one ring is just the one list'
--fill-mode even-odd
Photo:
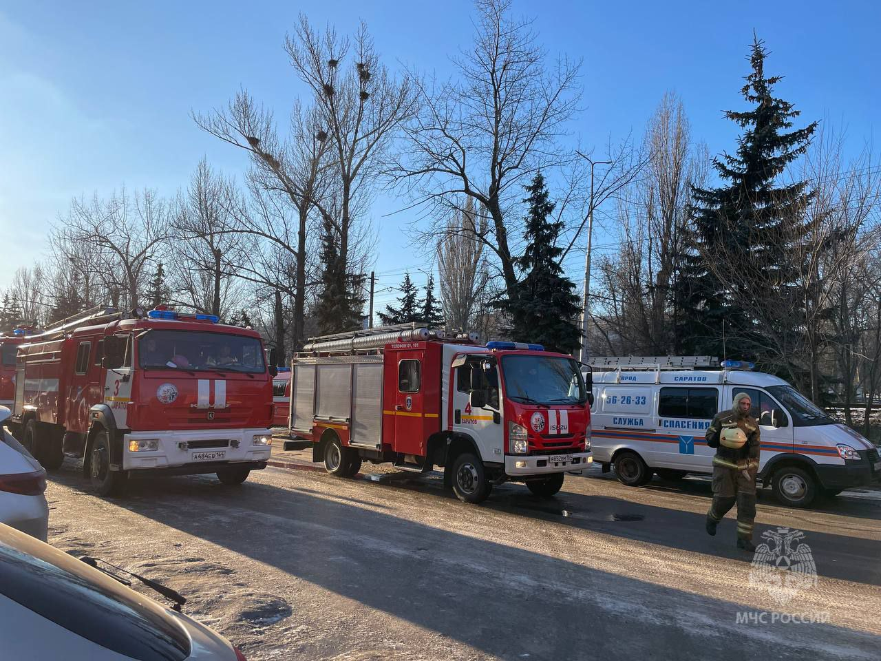
{"label": "wide windshield of the left fire truck marked 3", "polygon": [[257,338],[204,331],[148,331],[137,340],[137,364],[144,369],[266,371]]}

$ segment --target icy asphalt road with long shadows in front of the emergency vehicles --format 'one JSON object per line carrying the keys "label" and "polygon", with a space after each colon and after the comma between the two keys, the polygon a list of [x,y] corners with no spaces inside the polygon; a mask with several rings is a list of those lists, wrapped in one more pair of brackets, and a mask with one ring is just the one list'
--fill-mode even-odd
{"label": "icy asphalt road with long shadows in front of the emergency vehicles", "polygon": [[733,519],[715,538],[703,530],[706,480],[634,489],[595,471],[568,476],[551,499],[511,484],[474,507],[445,492],[440,474],[364,470],[337,479],[268,468],[240,487],[143,480],[124,499],[100,500],[65,464],[48,486],[49,541],[167,581],[189,598],[186,613],[252,660],[881,650],[877,492],[818,510],[761,495],[757,541],[778,527],[803,531],[798,544],[816,564],[816,584],[784,603],[772,579],[751,585]]}

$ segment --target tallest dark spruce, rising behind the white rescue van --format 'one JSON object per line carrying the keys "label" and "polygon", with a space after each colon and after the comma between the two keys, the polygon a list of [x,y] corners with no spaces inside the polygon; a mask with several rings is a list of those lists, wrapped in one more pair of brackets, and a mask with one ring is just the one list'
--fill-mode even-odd
{"label": "tallest dark spruce, rising behind the white rescue van", "polygon": [[[692,187],[692,227],[675,291],[680,310],[678,344],[684,353],[720,357],[727,353],[760,360],[761,341],[754,337],[753,316],[743,305],[743,296],[732,295],[731,283],[720,277],[709,260],[743,264],[738,276],[741,282],[746,279],[749,291],[766,287],[771,274],[782,294],[795,277],[786,237],[797,231],[802,222],[799,210],[811,193],[807,182],[779,185],[777,179],[805,152],[817,123],[789,130],[800,113],[793,104],[774,96],[774,85],[781,77],[766,76],[766,56],[764,43],[754,39],[752,71],[741,89],[752,108],[725,113],[742,134],[737,138],[737,152],[723,152],[713,162],[722,185]],[[728,338],[724,345],[723,323]]]}

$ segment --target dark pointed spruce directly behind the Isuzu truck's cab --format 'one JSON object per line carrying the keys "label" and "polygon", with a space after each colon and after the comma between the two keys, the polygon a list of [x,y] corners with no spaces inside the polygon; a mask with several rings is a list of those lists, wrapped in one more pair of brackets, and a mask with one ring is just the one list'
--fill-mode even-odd
{"label": "dark pointed spruce directly behind the Isuzu truck's cab", "polygon": [[532,342],[550,351],[572,353],[581,338],[581,306],[574,293],[574,282],[563,275],[559,264],[563,249],[557,246],[557,239],[563,223],[552,219],[554,204],[541,172],[524,188],[529,193],[523,200],[529,204],[523,234],[527,245],[523,256],[517,259],[524,275],[515,287],[515,299],[503,301],[501,307],[511,318],[509,334],[515,342]]}

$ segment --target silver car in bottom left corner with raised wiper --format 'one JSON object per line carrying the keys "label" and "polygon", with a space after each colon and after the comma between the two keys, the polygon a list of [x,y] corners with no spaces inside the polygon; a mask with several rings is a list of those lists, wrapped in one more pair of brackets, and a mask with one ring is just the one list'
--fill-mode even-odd
{"label": "silver car in bottom left corner with raised wiper", "polygon": [[[114,568],[0,524],[0,658],[245,661],[226,638],[174,610],[186,603],[174,590],[121,568],[93,567]],[[122,575],[176,605],[131,590]]]}

